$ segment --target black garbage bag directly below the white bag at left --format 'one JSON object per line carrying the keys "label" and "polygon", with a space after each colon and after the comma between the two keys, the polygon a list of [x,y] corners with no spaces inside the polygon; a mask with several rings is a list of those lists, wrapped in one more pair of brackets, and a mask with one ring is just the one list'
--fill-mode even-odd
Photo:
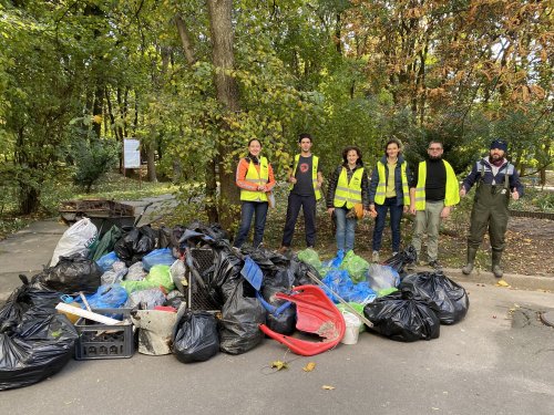
{"label": "black garbage bag directly below the white bag at left", "polygon": [[71,257],[60,257],[54,267],[34,276],[31,283],[64,293],[94,293],[102,283],[102,273],[96,261],[74,253]]}

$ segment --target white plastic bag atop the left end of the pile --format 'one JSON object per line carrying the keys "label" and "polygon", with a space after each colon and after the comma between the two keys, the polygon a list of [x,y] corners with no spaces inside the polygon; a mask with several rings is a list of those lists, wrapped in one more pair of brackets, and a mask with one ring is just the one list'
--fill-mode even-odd
{"label": "white plastic bag atop the left end of the pile", "polygon": [[82,253],[86,257],[89,247],[96,241],[98,237],[96,227],[89,218],[83,218],[73,224],[58,241],[50,267],[55,266],[60,257],[69,257],[73,253]]}

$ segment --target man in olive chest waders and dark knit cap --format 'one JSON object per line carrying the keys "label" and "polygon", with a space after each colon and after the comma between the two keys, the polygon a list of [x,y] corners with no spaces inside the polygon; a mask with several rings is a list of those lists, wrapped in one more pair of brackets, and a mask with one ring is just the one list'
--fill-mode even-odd
{"label": "man in olive chest waders and dark knit cap", "polygon": [[473,270],[475,255],[488,228],[492,247],[492,272],[496,278],[503,276],[500,261],[505,247],[507,204],[510,196],[517,200],[523,194],[520,176],[514,165],[504,158],[506,152],[505,142],[493,141],[489,156],[473,165],[460,188],[460,196],[464,197],[471,187],[478,184],[468,237],[468,263],[462,268],[462,272],[466,276]]}

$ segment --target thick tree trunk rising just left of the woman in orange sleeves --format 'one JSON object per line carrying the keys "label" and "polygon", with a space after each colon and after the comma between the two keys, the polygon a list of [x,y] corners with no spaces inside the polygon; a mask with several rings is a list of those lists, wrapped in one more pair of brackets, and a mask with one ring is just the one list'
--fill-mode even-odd
{"label": "thick tree trunk rising just left of the woman in orange sleeves", "polygon": [[[215,87],[217,101],[230,113],[240,110],[238,103],[238,87],[235,79],[225,73],[226,70],[233,70],[235,66],[235,56],[233,52],[234,32],[232,22],[232,0],[208,0],[209,29],[212,33],[212,60],[216,68]],[[223,125],[223,128],[228,128]],[[233,148],[223,142],[218,143],[219,162],[219,186],[220,197],[218,200],[219,222],[224,228],[229,229],[234,221],[232,205],[238,204],[238,187],[235,184],[234,172],[225,169],[225,156]],[[213,183],[206,183],[206,187],[213,186]],[[214,189],[206,188],[206,191]]]}

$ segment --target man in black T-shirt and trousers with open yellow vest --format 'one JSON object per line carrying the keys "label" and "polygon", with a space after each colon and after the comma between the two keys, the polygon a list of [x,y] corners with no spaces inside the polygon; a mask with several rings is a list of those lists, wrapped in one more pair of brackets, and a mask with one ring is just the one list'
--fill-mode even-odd
{"label": "man in black T-shirt and trousers with open yellow vest", "polygon": [[290,194],[288,195],[287,219],[279,249],[281,253],[290,250],[300,207],[304,211],[306,246],[314,248],[316,245],[316,203],[321,198],[320,188],[324,176],[319,166],[319,157],[311,154],[311,136],[306,133],[300,134],[298,145],[300,154],[295,156],[295,163],[288,176]]}

